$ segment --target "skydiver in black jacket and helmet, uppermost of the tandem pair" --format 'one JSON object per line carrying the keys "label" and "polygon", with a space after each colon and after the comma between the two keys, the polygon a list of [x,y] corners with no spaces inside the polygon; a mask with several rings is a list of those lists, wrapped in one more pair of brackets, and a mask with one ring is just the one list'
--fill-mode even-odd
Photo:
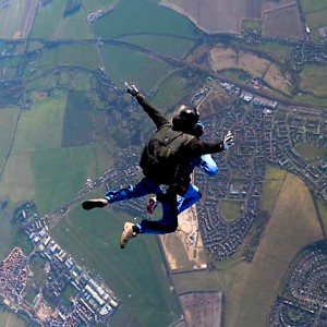
{"label": "skydiver in black jacket and helmet, uppermost of the tandem pair", "polygon": [[[234,145],[234,137],[228,132],[222,141],[219,142],[202,142],[194,135],[194,129],[198,122],[198,111],[195,108],[183,108],[173,117],[170,123],[157,109],[147,102],[145,97],[137,90],[134,85],[126,85],[126,90],[131,94],[144,111],[149,116],[157,126],[154,136],[171,138],[177,150],[177,160],[172,166],[167,166],[162,171],[153,171],[150,165],[146,162],[147,153],[150,142],[144,148],[140,166],[143,168],[145,177],[135,186],[128,186],[119,191],[108,191],[106,198],[95,198],[85,201],[82,206],[89,210],[96,207],[105,207],[107,204],[141,197],[150,193],[156,194],[157,199],[162,205],[162,218],[158,221],[142,220],[141,223],[126,221],[120,239],[120,246],[124,249],[130,239],[137,234],[165,234],[177,230],[178,228],[178,209],[177,195],[183,195],[190,185],[190,164],[206,154],[219,153],[227,150]],[[178,167],[178,169],[175,169]]]}

